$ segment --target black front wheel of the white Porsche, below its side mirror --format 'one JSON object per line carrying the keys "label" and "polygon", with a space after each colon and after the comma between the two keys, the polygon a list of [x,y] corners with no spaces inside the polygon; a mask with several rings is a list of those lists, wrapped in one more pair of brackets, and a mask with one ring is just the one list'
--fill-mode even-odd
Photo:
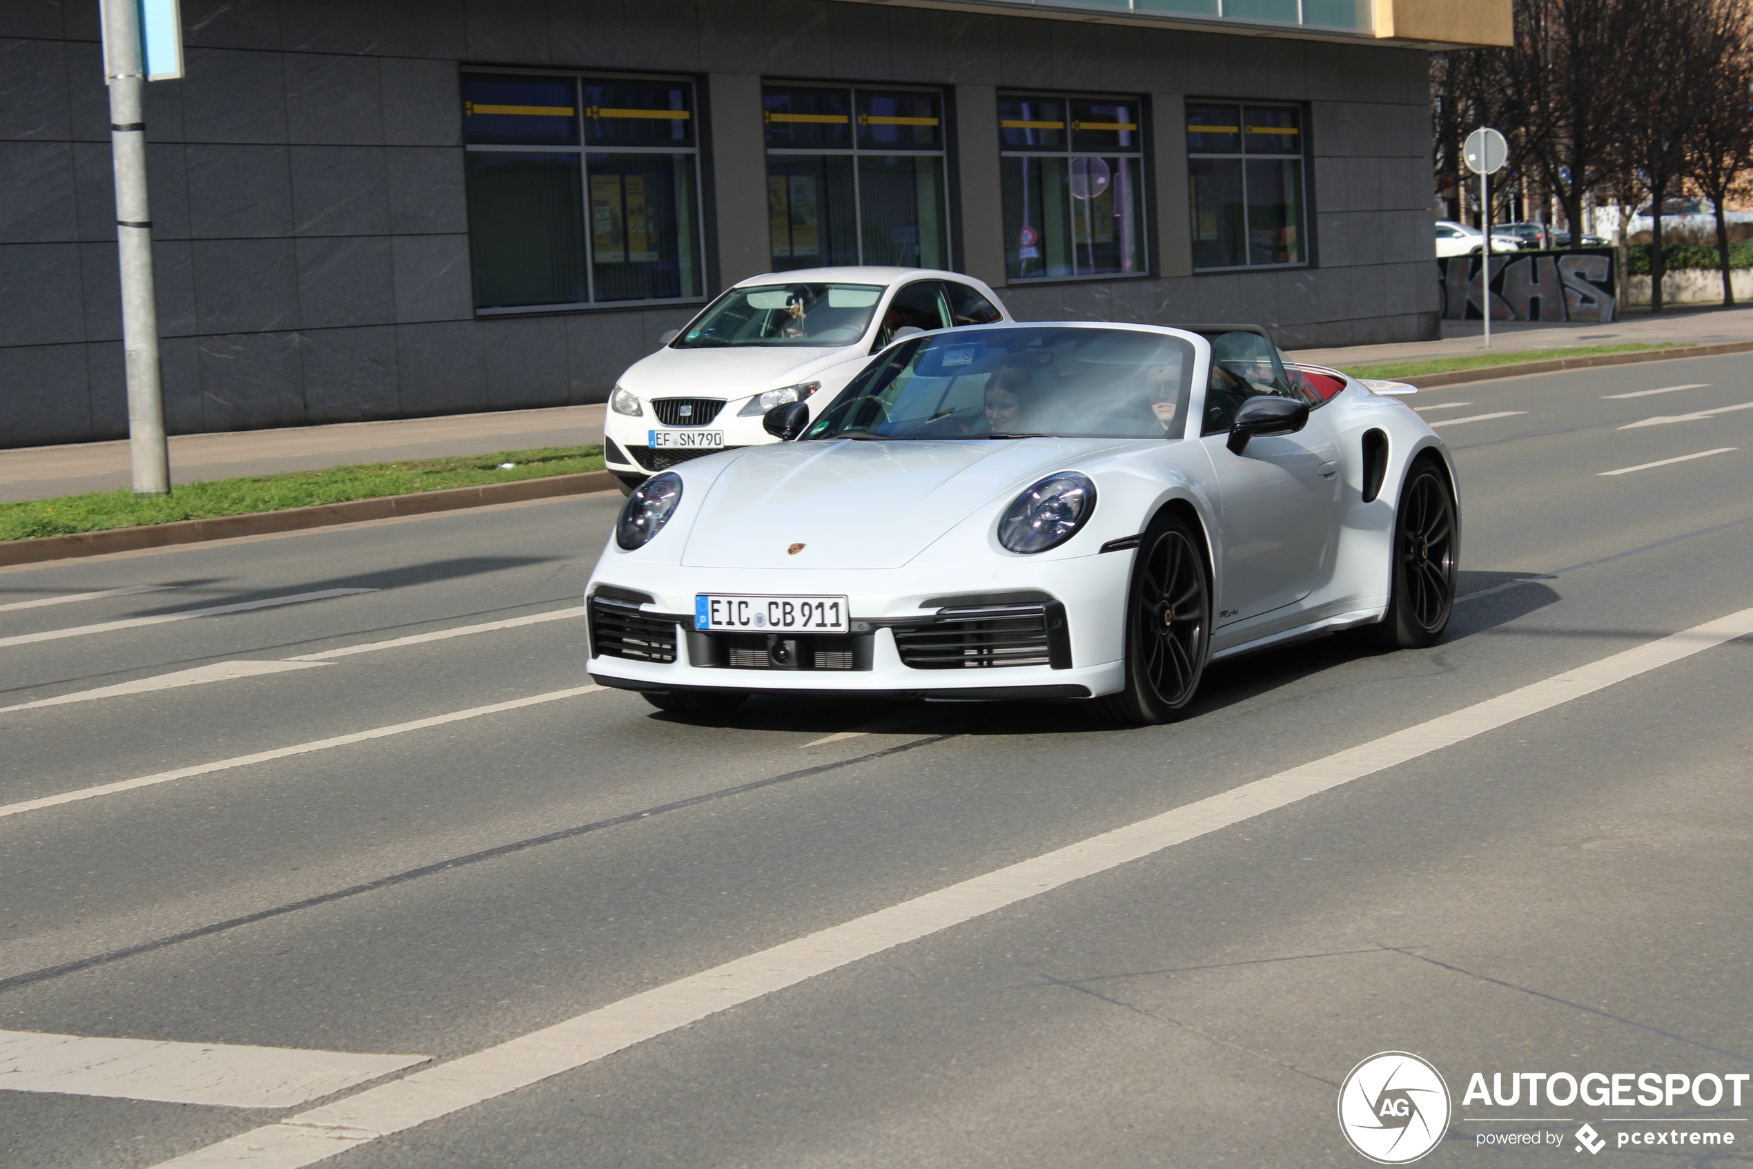
{"label": "black front wheel of the white Porsche, below its side mirror", "polygon": [[1178,515],[1152,521],[1132,563],[1125,687],[1096,699],[1115,722],[1173,722],[1199,691],[1211,638],[1203,543]]}

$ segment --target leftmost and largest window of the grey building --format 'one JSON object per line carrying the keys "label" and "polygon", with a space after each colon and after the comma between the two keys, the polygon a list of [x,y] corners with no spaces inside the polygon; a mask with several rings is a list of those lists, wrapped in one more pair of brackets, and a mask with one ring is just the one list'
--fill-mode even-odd
{"label": "leftmost and largest window of the grey building", "polygon": [[687,81],[465,74],[475,308],[699,298],[696,133]]}

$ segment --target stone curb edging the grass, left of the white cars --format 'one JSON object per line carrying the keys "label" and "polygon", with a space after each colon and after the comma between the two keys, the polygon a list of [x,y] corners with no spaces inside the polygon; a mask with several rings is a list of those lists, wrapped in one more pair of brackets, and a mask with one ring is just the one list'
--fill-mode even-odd
{"label": "stone curb edging the grass, left of the white cars", "polygon": [[550,478],[521,478],[510,484],[480,484],[477,487],[447,487],[444,491],[421,491],[407,496],[321,503],[317,507],[287,508],[284,512],[216,515],[214,519],[182,519],[170,524],[82,531],[72,536],[7,540],[0,542],[0,566],[103,556],[105,552],[137,552],[172,543],[202,543],[205,540],[259,536],[277,531],[328,528],[331,524],[356,524],[366,519],[456,512],[461,508],[487,507],[489,503],[580,496],[619,485],[621,480],[608,471],[584,471],[578,475],[554,475]]}

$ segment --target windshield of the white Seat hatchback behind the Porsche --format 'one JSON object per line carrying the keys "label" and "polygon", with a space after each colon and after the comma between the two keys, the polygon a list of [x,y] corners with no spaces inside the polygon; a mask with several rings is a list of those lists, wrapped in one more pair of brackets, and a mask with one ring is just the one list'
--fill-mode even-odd
{"label": "windshield of the white Seat hatchback behind the Porsche", "polygon": [[675,349],[724,345],[852,345],[871,322],[882,284],[754,284],[733,287],[675,338]]}

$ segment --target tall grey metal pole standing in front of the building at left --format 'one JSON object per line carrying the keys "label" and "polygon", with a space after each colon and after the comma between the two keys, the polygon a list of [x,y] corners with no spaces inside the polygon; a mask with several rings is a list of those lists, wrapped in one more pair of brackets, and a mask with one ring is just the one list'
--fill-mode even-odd
{"label": "tall grey metal pole standing in front of the building at left", "polygon": [[170,491],[165,394],[153,294],[153,217],[145,202],[145,54],[138,0],[100,0],[103,72],[116,159],[116,244],[121,261],[121,338],[128,372],[128,447],[137,494]]}

